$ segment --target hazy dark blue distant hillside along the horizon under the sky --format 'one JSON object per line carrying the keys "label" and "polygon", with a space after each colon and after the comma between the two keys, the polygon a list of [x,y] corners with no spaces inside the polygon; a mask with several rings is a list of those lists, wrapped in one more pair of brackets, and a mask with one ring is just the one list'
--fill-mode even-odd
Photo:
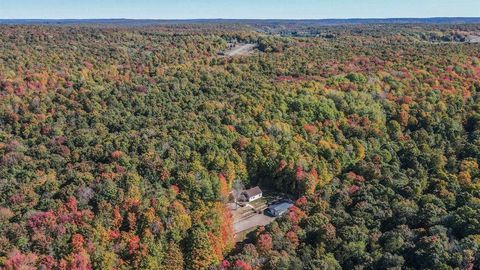
{"label": "hazy dark blue distant hillside along the horizon under the sky", "polygon": [[480,17],[438,17],[438,18],[385,18],[385,19],[320,19],[320,20],[244,20],[244,19],[192,19],[192,20],[133,20],[133,19],[0,19],[0,24],[109,24],[109,25],[156,25],[156,24],[470,24],[480,23]]}

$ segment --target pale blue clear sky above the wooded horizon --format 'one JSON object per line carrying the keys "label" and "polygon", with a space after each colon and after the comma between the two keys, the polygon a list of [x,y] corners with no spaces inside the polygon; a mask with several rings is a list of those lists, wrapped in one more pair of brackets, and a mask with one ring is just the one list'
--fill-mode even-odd
{"label": "pale blue clear sky above the wooded horizon", "polygon": [[480,17],[480,0],[0,0],[0,19]]}

